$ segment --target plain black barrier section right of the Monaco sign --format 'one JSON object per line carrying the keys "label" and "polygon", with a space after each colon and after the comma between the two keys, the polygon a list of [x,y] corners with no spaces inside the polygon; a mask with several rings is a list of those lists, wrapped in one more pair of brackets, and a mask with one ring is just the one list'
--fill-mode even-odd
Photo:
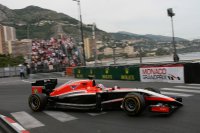
{"label": "plain black barrier section right of the Monaco sign", "polygon": [[187,63],[184,65],[185,83],[200,83],[200,64]]}

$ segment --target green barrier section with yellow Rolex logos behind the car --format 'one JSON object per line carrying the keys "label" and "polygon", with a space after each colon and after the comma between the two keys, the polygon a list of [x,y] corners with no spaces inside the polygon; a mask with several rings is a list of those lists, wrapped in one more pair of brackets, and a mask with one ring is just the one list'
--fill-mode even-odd
{"label": "green barrier section with yellow Rolex logos behind the car", "polygon": [[76,67],[75,78],[88,78],[106,80],[132,80],[139,81],[139,66],[101,66],[101,67]]}

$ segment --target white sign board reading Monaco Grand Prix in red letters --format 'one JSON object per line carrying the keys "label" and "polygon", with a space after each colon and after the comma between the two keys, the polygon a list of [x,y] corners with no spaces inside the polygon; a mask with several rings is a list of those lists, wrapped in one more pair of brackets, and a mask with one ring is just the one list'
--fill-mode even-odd
{"label": "white sign board reading Monaco Grand Prix in red letters", "polygon": [[142,82],[184,83],[183,65],[141,66],[140,80]]}

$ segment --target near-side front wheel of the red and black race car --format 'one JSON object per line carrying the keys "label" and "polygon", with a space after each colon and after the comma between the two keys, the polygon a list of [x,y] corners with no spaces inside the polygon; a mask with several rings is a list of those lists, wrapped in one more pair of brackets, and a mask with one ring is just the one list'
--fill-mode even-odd
{"label": "near-side front wheel of the red and black race car", "polygon": [[127,94],[122,102],[122,106],[127,115],[139,115],[145,107],[143,95],[138,93]]}

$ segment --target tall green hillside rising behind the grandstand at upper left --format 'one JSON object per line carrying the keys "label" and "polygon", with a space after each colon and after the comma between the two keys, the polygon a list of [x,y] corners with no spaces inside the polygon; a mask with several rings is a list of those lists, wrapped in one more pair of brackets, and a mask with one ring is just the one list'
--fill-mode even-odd
{"label": "tall green hillside rising behind the grandstand at upper left", "polygon": [[[80,41],[79,21],[52,10],[43,9],[37,6],[28,6],[23,9],[11,10],[0,5],[0,23],[16,28],[18,39],[38,38],[48,39],[56,36],[59,32],[64,32]],[[58,30],[61,27],[61,31]],[[91,27],[83,26],[84,36],[92,36]],[[97,38],[109,36],[108,33],[97,29]]]}

